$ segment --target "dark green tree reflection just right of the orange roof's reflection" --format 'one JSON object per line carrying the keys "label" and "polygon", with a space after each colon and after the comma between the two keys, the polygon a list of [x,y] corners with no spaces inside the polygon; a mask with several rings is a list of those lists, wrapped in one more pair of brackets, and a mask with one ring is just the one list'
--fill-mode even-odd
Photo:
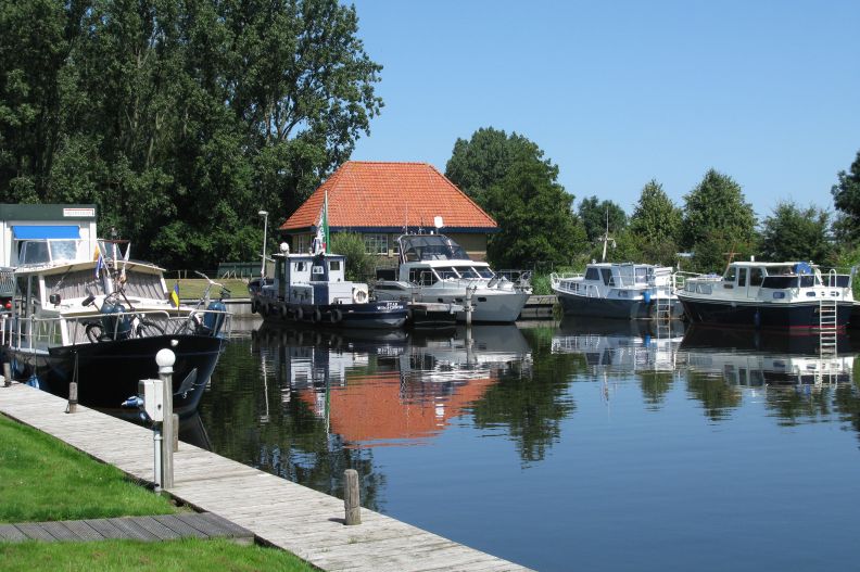
{"label": "dark green tree reflection just right of the orange roof's reflection", "polygon": [[532,346],[531,371],[523,372],[521,361],[511,363],[472,410],[479,428],[507,425],[522,461],[529,463],[543,460],[560,438],[561,420],[576,409],[567,387],[586,365],[581,355],[553,354],[552,335],[541,335],[540,329],[522,333]]}

